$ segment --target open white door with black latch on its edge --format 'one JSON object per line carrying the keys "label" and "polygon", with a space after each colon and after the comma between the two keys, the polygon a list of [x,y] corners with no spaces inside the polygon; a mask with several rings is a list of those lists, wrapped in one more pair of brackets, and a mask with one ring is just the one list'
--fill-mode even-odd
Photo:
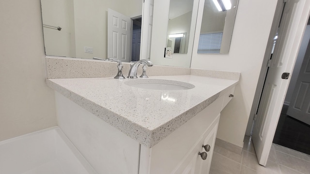
{"label": "open white door with black latch on its edge", "polygon": [[281,75],[293,72],[309,10],[310,0],[287,0],[285,4],[252,134],[257,158],[263,166],[267,163],[289,85],[289,79],[282,79]]}

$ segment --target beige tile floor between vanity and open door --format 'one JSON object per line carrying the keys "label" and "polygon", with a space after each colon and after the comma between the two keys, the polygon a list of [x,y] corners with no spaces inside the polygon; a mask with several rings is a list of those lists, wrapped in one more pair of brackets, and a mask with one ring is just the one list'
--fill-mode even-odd
{"label": "beige tile floor between vanity and open door", "polygon": [[210,174],[310,174],[310,155],[273,144],[265,167],[246,137],[241,154],[215,146]]}

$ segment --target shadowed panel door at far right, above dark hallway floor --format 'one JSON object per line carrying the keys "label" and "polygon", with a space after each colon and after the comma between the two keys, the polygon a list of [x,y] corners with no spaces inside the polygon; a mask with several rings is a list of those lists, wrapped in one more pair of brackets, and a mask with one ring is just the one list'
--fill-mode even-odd
{"label": "shadowed panel door at far right, above dark hallway floor", "polygon": [[310,43],[302,62],[287,115],[310,125]]}

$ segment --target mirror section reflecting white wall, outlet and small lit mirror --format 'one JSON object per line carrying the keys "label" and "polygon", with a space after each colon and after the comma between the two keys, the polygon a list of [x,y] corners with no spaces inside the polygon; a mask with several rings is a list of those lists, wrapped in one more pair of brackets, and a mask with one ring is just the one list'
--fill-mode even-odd
{"label": "mirror section reflecting white wall, outlet and small lit mirror", "polygon": [[199,0],[154,2],[151,61],[156,65],[190,67]]}

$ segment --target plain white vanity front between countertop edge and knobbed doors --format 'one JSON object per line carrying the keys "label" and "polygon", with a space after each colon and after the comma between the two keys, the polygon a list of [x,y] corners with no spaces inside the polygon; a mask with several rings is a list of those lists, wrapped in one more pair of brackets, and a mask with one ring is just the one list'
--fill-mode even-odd
{"label": "plain white vanity front between countertop edge and knobbed doors", "polygon": [[[149,174],[170,174],[186,158],[186,154],[197,144],[197,141],[208,134],[205,131],[218,118],[223,100],[224,96],[221,96],[168,137],[153,146],[151,148]],[[140,156],[142,155],[141,151]]]}

